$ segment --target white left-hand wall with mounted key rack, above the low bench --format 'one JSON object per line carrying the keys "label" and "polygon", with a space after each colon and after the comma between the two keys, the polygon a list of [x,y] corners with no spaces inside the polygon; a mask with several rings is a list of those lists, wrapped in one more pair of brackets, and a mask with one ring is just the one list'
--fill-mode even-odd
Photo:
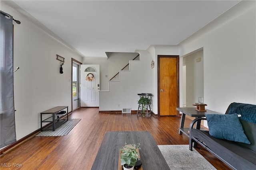
{"label": "white left-hand wall with mounted key rack, above the low bench", "polygon": [[[71,110],[71,69],[82,55],[54,37],[12,1],[1,1],[1,10],[21,21],[14,23],[14,105],[17,140],[40,128],[40,112],[55,106]],[[38,27],[40,25],[40,27]],[[43,28],[43,29],[42,29]],[[56,54],[65,58],[63,74]]]}

